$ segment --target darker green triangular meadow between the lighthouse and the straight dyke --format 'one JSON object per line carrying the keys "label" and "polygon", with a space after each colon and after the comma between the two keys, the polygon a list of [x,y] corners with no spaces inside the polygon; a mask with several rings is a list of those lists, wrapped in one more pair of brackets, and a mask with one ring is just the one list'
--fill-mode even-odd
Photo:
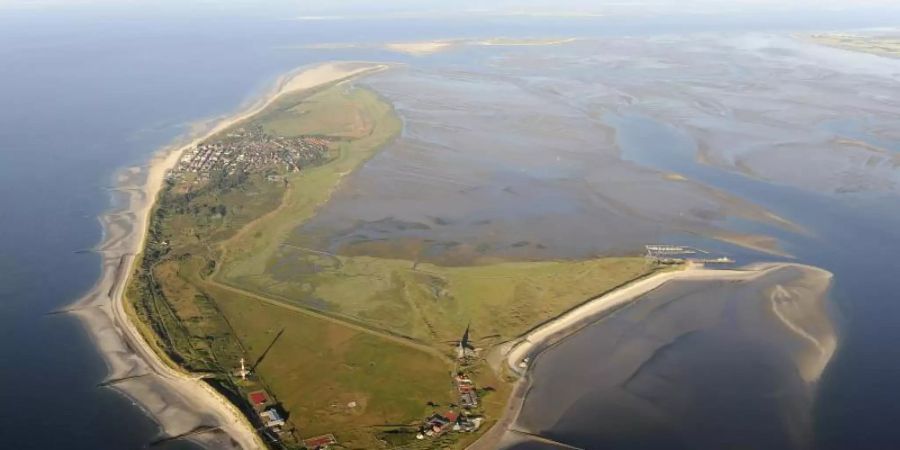
{"label": "darker green triangular meadow between the lighthouse and the straight dyke", "polygon": [[336,433],[350,448],[377,448],[379,427],[412,424],[431,411],[428,401],[446,405],[453,399],[452,366],[433,355],[224,288],[209,289],[253,364],[265,354],[256,370],[303,436]]}

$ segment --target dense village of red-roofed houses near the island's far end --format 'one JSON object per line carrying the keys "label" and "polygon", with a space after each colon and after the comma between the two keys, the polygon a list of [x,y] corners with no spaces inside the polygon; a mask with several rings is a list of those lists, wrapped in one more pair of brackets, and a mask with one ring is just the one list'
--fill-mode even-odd
{"label": "dense village of red-roofed houses near the island's far end", "polygon": [[258,125],[242,127],[186,151],[172,176],[193,173],[204,180],[218,171],[231,174],[272,167],[296,171],[327,158],[328,149],[329,141],[322,137],[281,137]]}

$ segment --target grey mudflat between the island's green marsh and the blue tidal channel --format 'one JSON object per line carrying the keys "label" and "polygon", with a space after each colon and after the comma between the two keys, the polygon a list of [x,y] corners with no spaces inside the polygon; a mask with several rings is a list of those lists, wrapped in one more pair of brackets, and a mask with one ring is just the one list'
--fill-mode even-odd
{"label": "grey mudflat between the island's green marsh and the blue tidal channel", "polygon": [[624,161],[615,131],[491,73],[398,68],[368,86],[402,136],[350,174],[292,237],[343,254],[471,264],[633,253],[660,236],[718,234],[765,209]]}

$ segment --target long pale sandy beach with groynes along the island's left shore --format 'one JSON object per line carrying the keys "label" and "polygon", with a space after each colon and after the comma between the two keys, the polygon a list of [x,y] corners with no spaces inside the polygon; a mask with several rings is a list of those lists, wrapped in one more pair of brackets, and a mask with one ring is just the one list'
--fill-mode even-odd
{"label": "long pale sandy beach with groynes along the island's left shore", "polygon": [[161,150],[145,167],[128,168],[118,175],[113,195],[122,196],[122,206],[100,217],[103,240],[95,249],[102,257],[100,279],[68,311],[82,319],[106,360],[109,376],[103,385],[129,396],[153,417],[162,429],[160,439],[181,436],[216,449],[265,448],[237,408],[199,375],[162,361],[126,313],[127,280],[144,247],[153,202],[167,171],[186,149],[250,118],[281,95],[385,68],[384,64],[328,63],[299,69],[280,78],[266,95],[238,114],[210,122],[202,131]]}

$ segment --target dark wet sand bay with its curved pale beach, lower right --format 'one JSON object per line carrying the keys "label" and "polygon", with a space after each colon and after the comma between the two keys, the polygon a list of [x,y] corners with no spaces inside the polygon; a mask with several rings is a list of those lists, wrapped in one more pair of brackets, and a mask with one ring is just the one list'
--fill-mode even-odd
{"label": "dark wet sand bay with its curved pale beach, lower right", "polygon": [[837,345],[830,280],[796,264],[687,270],[588,303],[507,347],[511,369],[532,358],[522,409],[471,448],[805,448]]}

